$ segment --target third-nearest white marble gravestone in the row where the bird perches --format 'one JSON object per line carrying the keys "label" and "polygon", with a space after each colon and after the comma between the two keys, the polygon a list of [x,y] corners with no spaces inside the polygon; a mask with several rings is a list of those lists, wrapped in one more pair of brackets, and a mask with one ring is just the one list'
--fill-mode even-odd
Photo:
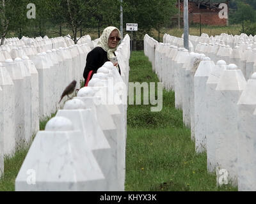
{"label": "third-nearest white marble gravestone in the row where the bird perches", "polygon": [[[89,89],[88,89],[89,88]],[[125,181],[125,119],[124,114],[120,112],[120,107],[116,105],[103,105],[100,103],[99,89],[104,91],[104,87],[84,87],[77,93],[77,99],[86,103],[86,107],[92,108],[97,113],[97,119],[106,138],[108,139],[111,149],[116,154],[118,189],[124,191]],[[95,95],[95,97],[93,97]],[[81,98],[80,98],[81,97]],[[98,99],[100,101],[95,101]],[[108,125],[106,125],[108,121]],[[116,135],[116,136],[115,136]],[[116,153],[115,153],[116,152]]]}

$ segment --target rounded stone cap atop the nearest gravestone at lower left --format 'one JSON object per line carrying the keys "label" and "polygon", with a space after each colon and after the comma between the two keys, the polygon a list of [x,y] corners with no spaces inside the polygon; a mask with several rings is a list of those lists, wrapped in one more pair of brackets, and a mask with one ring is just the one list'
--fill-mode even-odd
{"label": "rounded stone cap atop the nearest gravestone at lower left", "polygon": [[74,126],[66,117],[54,117],[45,126],[45,131],[72,131]]}

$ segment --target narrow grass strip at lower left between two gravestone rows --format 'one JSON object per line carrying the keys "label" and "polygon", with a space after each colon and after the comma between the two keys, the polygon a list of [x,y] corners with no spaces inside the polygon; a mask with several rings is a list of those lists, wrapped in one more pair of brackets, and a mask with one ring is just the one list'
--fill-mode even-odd
{"label": "narrow grass strip at lower left between two gravestone rows", "polygon": [[[40,131],[45,129],[47,122],[55,115],[56,113],[53,113],[51,117],[47,117],[40,121]],[[0,191],[15,191],[15,179],[26,155],[28,154],[29,147],[31,146],[34,138],[35,135],[33,136],[31,142],[17,150],[13,157],[4,158],[4,176],[0,179]]]}

